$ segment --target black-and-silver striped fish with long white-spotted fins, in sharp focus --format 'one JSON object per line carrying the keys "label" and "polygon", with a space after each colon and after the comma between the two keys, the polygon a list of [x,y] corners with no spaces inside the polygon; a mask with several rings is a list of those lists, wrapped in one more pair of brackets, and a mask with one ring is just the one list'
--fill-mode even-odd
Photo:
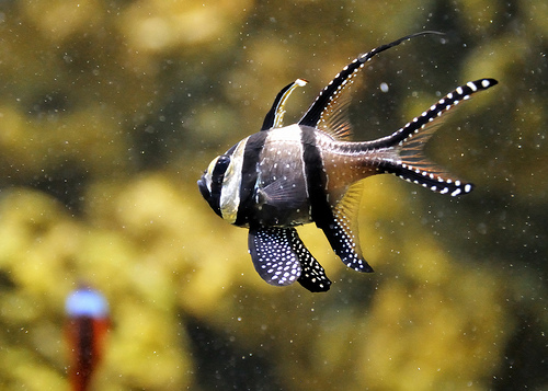
{"label": "black-and-silver striped fish with long white-spotted fins, in sharp focus", "polygon": [[[350,268],[372,273],[359,245],[357,212],[364,181],[393,174],[435,193],[459,196],[473,184],[431,162],[424,146],[442,116],[472,94],[498,83],[491,78],[466,82],[389,136],[351,141],[349,90],[358,71],[407,35],[356,57],[320,92],[302,117],[284,126],[285,104],[307,81],[279,91],[260,131],[216,157],[197,182],[209,207],[231,225],[249,229],[255,271],[274,286],[298,281],[311,292],[328,291],[331,280],[300,240],[296,227],[315,222],[333,252]],[[445,118],[445,117],[444,117]]]}

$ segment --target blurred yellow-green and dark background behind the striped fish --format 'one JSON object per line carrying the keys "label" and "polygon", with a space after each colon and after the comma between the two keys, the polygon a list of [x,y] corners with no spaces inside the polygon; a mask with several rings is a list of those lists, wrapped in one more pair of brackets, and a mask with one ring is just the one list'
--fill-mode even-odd
{"label": "blurred yellow-green and dark background behind the striped fish", "polygon": [[[266,285],[196,180],[288,82],[310,81],[292,123],[357,54],[422,30],[446,35],[357,78],[355,138],[495,78],[427,149],[476,191],[368,179],[376,273],[310,225],[331,290]],[[1,1],[1,389],[68,390],[80,281],[112,311],[95,390],[548,389],[547,53],[546,0]]]}

